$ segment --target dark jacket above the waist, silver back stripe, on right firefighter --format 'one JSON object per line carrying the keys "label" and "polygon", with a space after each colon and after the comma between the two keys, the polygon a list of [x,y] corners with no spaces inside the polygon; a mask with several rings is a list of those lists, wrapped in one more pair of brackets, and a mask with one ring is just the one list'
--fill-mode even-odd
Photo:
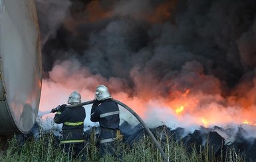
{"label": "dark jacket above the waist, silver back stripe, on right firefighter", "polygon": [[90,120],[99,122],[100,128],[119,130],[119,108],[112,99],[100,101],[98,106],[92,105]]}

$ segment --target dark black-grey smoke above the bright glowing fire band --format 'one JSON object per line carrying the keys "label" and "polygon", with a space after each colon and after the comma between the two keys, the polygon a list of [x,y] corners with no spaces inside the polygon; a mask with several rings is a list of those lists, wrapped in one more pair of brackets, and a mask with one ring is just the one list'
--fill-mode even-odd
{"label": "dark black-grey smoke above the bright glowing fire band", "polygon": [[255,0],[36,3],[45,78],[58,61],[76,59],[130,91],[140,83],[162,96],[174,87],[225,96],[253,86]]}

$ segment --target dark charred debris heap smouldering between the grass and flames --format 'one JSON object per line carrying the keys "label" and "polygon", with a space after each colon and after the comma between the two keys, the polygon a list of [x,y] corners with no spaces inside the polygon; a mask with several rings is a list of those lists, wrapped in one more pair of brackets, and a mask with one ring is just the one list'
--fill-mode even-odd
{"label": "dark charred debris heap smouldering between the grass and flames", "polygon": [[[42,133],[40,131],[40,126],[36,122],[29,134],[18,136],[22,138],[21,141],[27,140],[28,138],[36,138]],[[90,134],[92,130],[98,134],[99,127],[91,127],[84,131],[84,138],[86,141],[89,141]],[[123,142],[128,143],[128,145],[133,145],[136,142],[139,142],[144,136],[148,136],[148,133],[145,131],[144,127],[141,124],[136,126],[131,126],[128,122],[123,122],[120,126],[120,130],[124,135]],[[245,134],[249,134],[242,126],[238,127],[237,130],[231,130],[231,128],[224,130],[221,127],[214,126],[213,128],[205,128],[201,126],[199,129],[194,130],[191,133],[185,128],[176,128],[171,129],[168,126],[158,126],[157,128],[150,129],[152,134],[162,143],[168,144],[168,142],[178,142],[182,143],[188,152],[192,152],[193,149],[198,149],[200,147],[208,147],[212,149],[212,155],[219,157],[225,155],[227,149],[234,149],[235,152],[239,152],[240,155],[245,156],[246,161],[251,161],[256,159],[256,138],[246,138]],[[232,141],[227,141],[221,133],[225,136],[232,136]],[[235,133],[234,133],[235,132]],[[47,134],[46,132],[43,132]],[[56,136],[56,143],[59,143],[59,130],[54,132]],[[22,143],[21,143],[22,144]]]}

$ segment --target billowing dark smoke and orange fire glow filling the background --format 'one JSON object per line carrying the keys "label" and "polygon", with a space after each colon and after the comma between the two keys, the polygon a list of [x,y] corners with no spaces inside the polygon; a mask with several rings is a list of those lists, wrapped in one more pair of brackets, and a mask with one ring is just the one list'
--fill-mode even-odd
{"label": "billowing dark smoke and orange fire glow filling the background", "polygon": [[256,1],[36,2],[41,111],[104,84],[151,127],[256,124]]}

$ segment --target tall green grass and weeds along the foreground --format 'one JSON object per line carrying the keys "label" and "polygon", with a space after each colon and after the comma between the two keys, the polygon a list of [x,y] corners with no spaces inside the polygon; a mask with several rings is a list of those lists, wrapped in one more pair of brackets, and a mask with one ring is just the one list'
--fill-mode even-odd
{"label": "tall green grass and weeds along the foreground", "polygon": [[[162,141],[162,140],[161,140]],[[213,149],[209,146],[191,146],[190,150],[186,149],[183,143],[172,140],[172,137],[167,137],[164,142],[160,142],[162,149],[169,158],[169,161],[175,162],[242,162],[245,161],[239,153],[235,152],[232,147],[225,151],[219,157],[213,155]],[[84,152],[86,153],[86,161],[103,161],[100,159],[100,153],[96,147],[95,132],[92,129],[90,134],[90,141],[86,142],[84,146]],[[126,143],[117,143],[118,155],[122,155],[122,160],[115,159],[106,155],[104,157],[105,162],[127,161],[127,162],[159,162],[164,161],[160,151],[156,148],[150,137],[144,136],[138,142],[133,145]],[[53,132],[43,134],[40,138],[29,138],[21,145],[21,141],[13,137],[9,140],[9,146],[5,151],[1,152],[1,162],[5,161],[81,161],[80,159],[69,159],[68,155],[63,152],[59,144],[55,142],[55,136]]]}

